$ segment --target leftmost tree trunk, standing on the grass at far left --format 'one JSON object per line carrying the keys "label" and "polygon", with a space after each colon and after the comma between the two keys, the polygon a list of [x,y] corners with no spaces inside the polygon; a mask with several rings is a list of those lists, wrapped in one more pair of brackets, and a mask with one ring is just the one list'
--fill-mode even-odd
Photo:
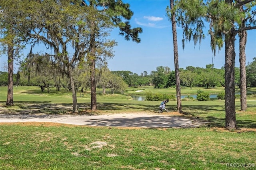
{"label": "leftmost tree trunk, standing on the grass at far left", "polygon": [[6,105],[13,106],[13,60],[14,49],[13,45],[8,45],[8,87]]}

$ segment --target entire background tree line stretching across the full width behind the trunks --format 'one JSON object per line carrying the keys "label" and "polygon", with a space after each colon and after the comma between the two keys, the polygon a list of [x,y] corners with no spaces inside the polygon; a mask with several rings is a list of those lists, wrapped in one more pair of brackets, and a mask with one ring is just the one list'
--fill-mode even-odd
{"label": "entire background tree line stretching across the full width behind the trunks", "polygon": [[[37,59],[40,57],[37,57]],[[48,60],[49,61],[49,60]],[[51,61],[50,61],[51,63]],[[54,87],[57,91],[60,88],[70,90],[71,86],[68,77],[62,76],[54,69],[50,69],[51,65],[42,64],[42,61],[30,62],[33,65],[26,70],[14,74],[14,85],[21,86],[39,86],[42,91],[49,91]],[[74,81],[76,91],[86,90],[90,87],[90,77],[88,67],[77,67],[74,69]],[[26,69],[28,67],[26,66]],[[44,70],[44,71],[40,71]],[[180,68],[180,80],[182,87],[221,87],[224,86],[225,68],[214,68],[213,64],[206,65],[206,68],[188,66],[185,69]],[[0,85],[8,85],[8,73],[0,71]],[[107,67],[96,69],[97,87],[122,92],[126,87],[142,87],[154,86],[155,88],[175,88],[175,72],[169,67],[159,66],[156,71],[148,74],[144,71],[140,75],[132,73],[132,71],[110,71]],[[247,87],[256,87],[256,57],[246,66],[246,82]],[[235,83],[240,88],[240,69],[235,67]]]}

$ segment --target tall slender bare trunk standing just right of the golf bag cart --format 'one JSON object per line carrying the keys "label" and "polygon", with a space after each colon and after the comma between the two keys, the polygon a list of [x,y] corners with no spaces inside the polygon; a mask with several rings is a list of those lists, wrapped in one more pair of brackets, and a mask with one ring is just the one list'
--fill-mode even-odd
{"label": "tall slender bare trunk standing just right of the golf bag cart", "polygon": [[176,78],[177,111],[181,113],[182,105],[181,105],[181,93],[180,93],[180,71],[179,71],[179,55],[178,55],[178,42],[177,42],[175,11],[174,11],[174,0],[170,0],[170,8],[171,8],[171,16],[172,16],[172,36],[173,36],[174,67],[175,67],[175,78]]}

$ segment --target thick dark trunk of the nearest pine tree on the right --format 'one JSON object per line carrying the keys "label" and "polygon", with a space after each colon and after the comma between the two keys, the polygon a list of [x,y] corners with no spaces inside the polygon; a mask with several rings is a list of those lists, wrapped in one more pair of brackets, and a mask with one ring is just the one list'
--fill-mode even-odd
{"label": "thick dark trunk of the nearest pine tree on the right", "polygon": [[236,129],[235,35],[225,35],[225,109],[226,128]]}

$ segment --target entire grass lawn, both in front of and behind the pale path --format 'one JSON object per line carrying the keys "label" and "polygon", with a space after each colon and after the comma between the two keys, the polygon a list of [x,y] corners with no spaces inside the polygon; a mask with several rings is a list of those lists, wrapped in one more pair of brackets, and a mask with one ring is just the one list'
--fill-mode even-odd
{"label": "entire grass lawn, both in front of and behind the pale path", "polygon": [[[153,89],[147,88],[143,91]],[[155,92],[169,94],[172,90],[175,91],[160,89]],[[212,89],[213,93],[219,90],[223,89]],[[256,88],[250,90],[256,91]],[[53,89],[47,93],[38,87],[18,87],[14,88],[15,106],[4,107],[6,91],[6,87],[0,87],[2,114],[71,114],[72,94],[68,91]],[[128,89],[129,94],[135,91]],[[186,91],[183,94],[194,93],[189,89]],[[79,97],[80,93],[77,93],[77,96],[80,114],[157,113],[160,104],[159,101],[134,101],[129,95],[98,94],[98,111],[91,113],[88,111],[90,94],[87,92],[84,97]],[[240,100],[236,99],[236,120],[241,128],[236,131],[223,128],[224,101],[182,101],[184,113],[181,116],[210,122],[210,127],[200,128],[1,123],[0,170],[255,169],[256,96],[249,95],[247,99],[246,112],[239,111]],[[176,101],[170,101],[167,107],[176,111]]]}

